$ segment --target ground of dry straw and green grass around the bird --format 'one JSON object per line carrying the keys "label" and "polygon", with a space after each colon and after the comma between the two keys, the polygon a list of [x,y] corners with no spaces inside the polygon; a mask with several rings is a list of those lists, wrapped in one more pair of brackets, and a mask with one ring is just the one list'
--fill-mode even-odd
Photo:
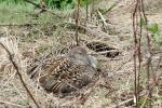
{"label": "ground of dry straw and green grass around the bird", "polygon": [[[117,0],[103,0],[102,8],[109,8]],[[145,2],[146,14],[148,21],[157,22],[161,27],[162,1],[157,0],[152,2],[148,0]],[[21,13],[15,10],[8,10],[8,8],[0,8],[0,35],[6,40],[1,40],[15,55],[16,63],[18,64],[21,73],[33,94],[36,100],[43,107],[53,106],[72,106],[83,108],[113,108],[116,105],[124,100],[133,98],[134,94],[134,40],[133,40],[133,25],[132,13],[134,9],[134,0],[121,0],[112,10],[104,14],[108,28],[106,31],[96,18],[96,13],[92,19],[89,21],[87,26],[90,29],[81,27],[79,37],[82,45],[91,42],[103,42],[109,48],[114,49],[118,53],[114,57],[104,56],[98,52],[94,52],[86,48],[90,54],[97,57],[99,66],[104,71],[104,77],[99,79],[99,84],[94,86],[90,92],[90,96],[85,99],[84,104],[80,104],[78,98],[57,98],[53,94],[46,94],[43,89],[37,89],[37,84],[29,79],[26,73],[33,59],[39,59],[45,54],[52,54],[53,57],[66,53],[67,49],[75,44],[75,21],[70,18],[72,12],[62,13],[64,18],[62,21],[58,16],[51,15],[51,13],[41,13],[39,17],[35,16],[35,12]],[[15,14],[16,13],[16,14]],[[58,12],[60,14],[60,12]],[[82,10],[81,18],[84,18],[84,10]],[[21,17],[21,18],[18,18]],[[83,22],[84,19],[82,19]],[[90,24],[90,25],[89,25]],[[105,31],[105,32],[104,32]],[[12,38],[12,39],[11,39]],[[10,41],[9,41],[10,39]],[[144,39],[145,40],[145,39]],[[9,42],[6,42],[9,41]],[[144,45],[146,42],[144,41]],[[156,52],[160,52],[160,46],[152,45]],[[4,50],[0,50],[0,107],[4,108],[26,108],[35,107],[29,95],[26,93],[22,85],[16,70],[12,66]],[[158,64],[160,54],[154,54],[152,57],[153,64]],[[143,62],[145,67],[145,60]],[[156,66],[153,67],[156,68]],[[146,84],[146,70],[143,70],[141,79],[143,84]],[[160,75],[156,71],[156,76]],[[141,89],[146,87],[141,84]],[[154,97],[159,97],[153,103],[153,108],[161,108],[162,95],[159,93],[161,90],[154,90]],[[132,108],[133,100],[120,106],[120,108]]]}

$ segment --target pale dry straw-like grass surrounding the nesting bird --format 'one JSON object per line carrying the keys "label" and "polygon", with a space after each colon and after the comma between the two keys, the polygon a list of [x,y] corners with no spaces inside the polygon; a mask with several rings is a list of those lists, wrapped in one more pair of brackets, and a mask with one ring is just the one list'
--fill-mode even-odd
{"label": "pale dry straw-like grass surrounding the nesting bird", "polygon": [[[77,97],[72,99],[70,97],[58,98],[53,94],[45,93],[43,89],[38,89],[38,83],[30,80],[29,76],[26,73],[27,69],[29,69],[30,65],[33,63],[33,59],[41,58],[46,54],[56,57],[60,54],[67,53],[68,48],[71,44],[75,44],[75,30],[72,27],[70,28],[68,24],[60,26],[60,23],[55,23],[54,25],[43,24],[31,27],[23,26],[1,28],[1,30],[3,30],[3,37],[0,38],[0,42],[2,42],[12,54],[14,54],[14,60],[19,67],[23,79],[41,107],[72,106],[73,108],[112,108],[112,105],[133,98],[133,37],[132,19],[129,13],[131,11],[129,5],[131,4],[132,0],[123,0],[110,13],[105,15],[106,19],[108,18],[112,25],[112,28],[110,27],[110,29],[113,30],[111,35],[97,37],[92,33],[83,33],[82,31],[79,33],[81,44],[84,46],[86,42],[100,41],[122,52],[114,58],[108,58],[97,54],[95,55],[100,63],[102,69],[105,71],[106,78],[100,78],[99,85],[96,85],[91,91],[84,105],[81,105]],[[157,21],[161,18],[161,14],[159,13],[154,13],[154,15],[149,14],[148,16],[151,19],[158,17],[156,18]],[[66,22],[67,21],[68,19],[66,19]],[[96,23],[98,23],[98,21],[91,22],[93,25],[96,25]],[[100,25],[102,24],[99,23],[97,27],[91,28],[102,30],[103,28]],[[87,49],[87,51],[90,54],[95,53],[90,49]],[[154,64],[157,64],[159,56],[160,55],[154,55]],[[144,68],[144,75],[141,76],[143,89],[145,89],[146,84],[145,71]],[[160,75],[160,70],[157,71],[156,75]],[[159,94],[160,91],[159,87],[157,90],[154,89],[153,96],[156,98],[162,97],[162,95]],[[126,105],[122,107],[125,108]],[[157,99],[153,105],[153,108],[160,108],[162,106],[161,99]],[[8,53],[0,48],[0,107],[26,108],[30,106],[35,107],[32,100],[23,87],[14,67],[9,60]]]}

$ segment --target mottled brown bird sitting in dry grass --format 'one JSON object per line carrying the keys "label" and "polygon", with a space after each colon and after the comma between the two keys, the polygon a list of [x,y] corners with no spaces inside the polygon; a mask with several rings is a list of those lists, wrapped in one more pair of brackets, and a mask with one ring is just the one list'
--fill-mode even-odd
{"label": "mottled brown bird sitting in dry grass", "polygon": [[97,73],[97,64],[83,46],[75,46],[65,56],[35,66],[29,73],[48,93],[64,95],[89,85]]}

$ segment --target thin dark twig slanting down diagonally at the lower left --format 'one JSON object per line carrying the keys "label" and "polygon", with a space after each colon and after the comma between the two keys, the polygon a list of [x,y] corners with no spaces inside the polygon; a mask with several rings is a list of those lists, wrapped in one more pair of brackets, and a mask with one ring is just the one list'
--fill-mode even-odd
{"label": "thin dark twig slanting down diagonally at the lower left", "polygon": [[37,106],[37,108],[40,108],[38,103],[36,102],[35,97],[32,96],[31,92],[29,91],[29,89],[27,87],[26,83],[24,82],[24,79],[22,77],[22,73],[19,72],[18,66],[16,65],[16,63],[13,60],[13,55],[11,54],[11,52],[4,46],[4,44],[0,43],[0,45],[6,51],[6,53],[9,54],[9,59],[11,60],[11,63],[13,64],[14,68],[16,69],[16,72],[19,77],[19,80],[23,84],[23,86],[25,87],[26,92],[29,94],[29,96],[31,97],[31,99],[33,100],[35,105]]}

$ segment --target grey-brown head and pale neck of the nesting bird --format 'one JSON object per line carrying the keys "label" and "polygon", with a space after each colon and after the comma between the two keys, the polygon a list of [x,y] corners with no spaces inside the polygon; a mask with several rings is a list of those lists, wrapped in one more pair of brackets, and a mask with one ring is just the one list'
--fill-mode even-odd
{"label": "grey-brown head and pale neck of the nesting bird", "polygon": [[79,64],[87,65],[93,68],[97,68],[97,59],[94,56],[87,55],[87,52],[82,46],[72,48],[69,51],[69,57],[76,59]]}

